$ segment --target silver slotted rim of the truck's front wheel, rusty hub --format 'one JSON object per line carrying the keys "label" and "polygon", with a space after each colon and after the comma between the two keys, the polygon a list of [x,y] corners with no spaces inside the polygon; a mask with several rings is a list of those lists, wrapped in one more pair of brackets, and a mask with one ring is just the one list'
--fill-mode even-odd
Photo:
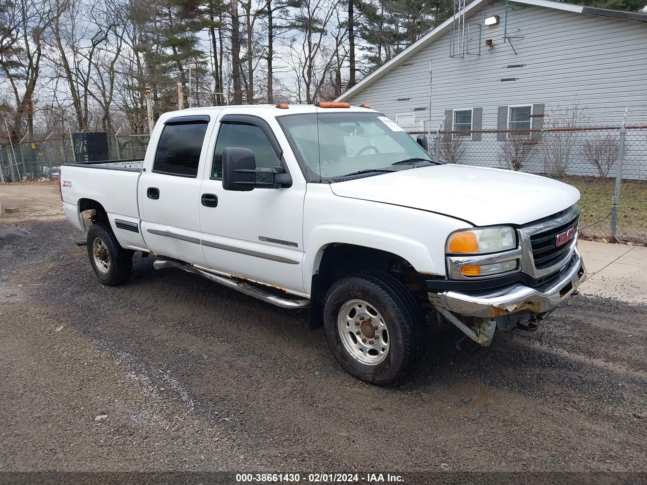
{"label": "silver slotted rim of the truck's front wheel, rusty hub", "polygon": [[391,339],[380,313],[369,303],[352,299],[342,305],[337,331],[344,348],[365,365],[378,365],[389,354]]}

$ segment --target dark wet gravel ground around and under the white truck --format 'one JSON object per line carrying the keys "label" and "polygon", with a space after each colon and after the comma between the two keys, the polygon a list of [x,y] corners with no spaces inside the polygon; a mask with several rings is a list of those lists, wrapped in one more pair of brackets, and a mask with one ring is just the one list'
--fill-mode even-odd
{"label": "dark wet gravel ground around and under the white truck", "polygon": [[382,389],[306,312],[138,254],[102,286],[48,197],[0,219],[0,471],[647,470],[647,308],[573,297],[488,349],[436,332]]}

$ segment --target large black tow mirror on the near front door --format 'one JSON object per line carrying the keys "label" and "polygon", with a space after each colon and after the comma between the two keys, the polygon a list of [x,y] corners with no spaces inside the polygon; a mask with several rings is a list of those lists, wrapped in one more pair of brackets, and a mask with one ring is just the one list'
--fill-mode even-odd
{"label": "large black tow mirror on the near front door", "polygon": [[[256,174],[263,174],[257,178]],[[223,150],[223,189],[250,191],[291,187],[292,178],[283,167],[256,167],[254,152],[243,147]]]}

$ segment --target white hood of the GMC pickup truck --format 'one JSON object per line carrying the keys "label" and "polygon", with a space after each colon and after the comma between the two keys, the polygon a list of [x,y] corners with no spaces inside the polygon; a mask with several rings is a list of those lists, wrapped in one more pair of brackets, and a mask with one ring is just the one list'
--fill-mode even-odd
{"label": "white hood of the GMC pickup truck", "polygon": [[335,195],[457,217],[475,226],[525,224],[575,204],[580,191],[551,178],[444,164],[331,184]]}

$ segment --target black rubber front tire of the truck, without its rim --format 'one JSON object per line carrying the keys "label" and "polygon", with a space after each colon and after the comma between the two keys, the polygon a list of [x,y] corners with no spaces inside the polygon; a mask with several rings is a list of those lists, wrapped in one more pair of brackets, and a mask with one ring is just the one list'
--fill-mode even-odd
{"label": "black rubber front tire of the truck, without its rim", "polygon": [[[355,299],[375,308],[388,328],[388,354],[375,365],[357,360],[340,337],[340,310]],[[402,382],[411,376],[426,352],[426,326],[415,299],[397,279],[378,271],[359,272],[334,283],[325,297],[323,327],[328,345],[342,367],[375,385]]]}

